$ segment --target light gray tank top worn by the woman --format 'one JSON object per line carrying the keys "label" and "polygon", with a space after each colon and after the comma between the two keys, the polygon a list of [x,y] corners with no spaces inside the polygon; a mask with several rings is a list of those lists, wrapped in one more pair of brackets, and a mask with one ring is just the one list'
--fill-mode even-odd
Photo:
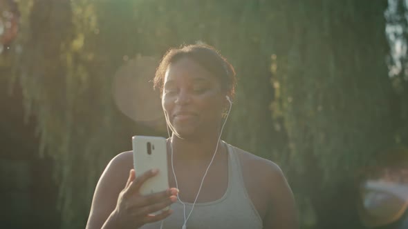
{"label": "light gray tank top worn by the woman", "polygon": [[[248,196],[241,171],[241,163],[233,146],[228,146],[228,188],[221,199],[196,203],[187,221],[187,229],[207,228],[263,228],[258,211]],[[186,217],[192,203],[185,203]],[[171,205],[173,213],[163,222],[163,229],[181,229],[184,223],[183,204]],[[159,229],[160,221],[149,223],[143,229]]]}

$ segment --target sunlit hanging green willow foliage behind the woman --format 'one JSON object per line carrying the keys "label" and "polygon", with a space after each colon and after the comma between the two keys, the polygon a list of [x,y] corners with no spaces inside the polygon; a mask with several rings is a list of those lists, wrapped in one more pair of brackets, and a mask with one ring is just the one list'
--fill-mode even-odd
{"label": "sunlit hanging green willow foliage behind the woman", "polygon": [[124,56],[219,48],[239,78],[225,139],[277,161],[299,203],[333,198],[393,143],[382,1],[26,2],[10,79],[55,159],[62,228],[84,227],[98,177],[132,135],[163,135],[113,103]]}

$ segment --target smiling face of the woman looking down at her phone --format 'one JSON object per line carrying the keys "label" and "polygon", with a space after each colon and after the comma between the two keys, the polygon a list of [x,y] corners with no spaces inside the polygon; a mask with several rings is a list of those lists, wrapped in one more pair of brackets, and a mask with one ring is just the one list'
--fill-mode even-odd
{"label": "smiling face of the woman looking down at her phone", "polygon": [[219,131],[225,92],[212,73],[183,57],[167,68],[162,106],[171,130],[178,137],[214,135]]}

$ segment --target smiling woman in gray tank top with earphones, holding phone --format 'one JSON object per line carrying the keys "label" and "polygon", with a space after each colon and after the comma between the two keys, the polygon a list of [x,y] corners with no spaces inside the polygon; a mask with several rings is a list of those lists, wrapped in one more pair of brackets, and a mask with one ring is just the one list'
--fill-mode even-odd
{"label": "smiling woman in gray tank top with earphones, holding phone", "polygon": [[235,86],[224,57],[204,45],[171,49],[154,86],[172,132],[169,186],[177,188],[140,195],[158,171],[135,175],[132,152],[122,152],[100,177],[86,228],[298,228],[280,168],[219,139]]}

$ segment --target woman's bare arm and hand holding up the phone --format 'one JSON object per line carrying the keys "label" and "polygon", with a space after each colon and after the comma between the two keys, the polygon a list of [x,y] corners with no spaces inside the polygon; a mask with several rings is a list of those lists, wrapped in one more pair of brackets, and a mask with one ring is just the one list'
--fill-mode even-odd
{"label": "woman's bare arm and hand holding up the phone", "polygon": [[[177,200],[178,190],[141,195],[142,184],[159,171],[148,170],[136,177],[132,165],[132,153],[124,152],[106,166],[95,189],[87,229],[135,229],[171,214],[170,209],[163,209]],[[153,214],[159,210],[163,211]]]}

